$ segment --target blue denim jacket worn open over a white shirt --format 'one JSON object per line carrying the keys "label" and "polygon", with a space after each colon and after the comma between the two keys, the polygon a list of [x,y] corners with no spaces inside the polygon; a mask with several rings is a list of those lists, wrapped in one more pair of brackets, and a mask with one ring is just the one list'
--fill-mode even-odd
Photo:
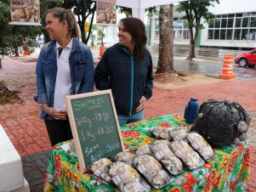
{"label": "blue denim jacket worn open over a white shirt", "polygon": [[[82,42],[73,39],[69,58],[71,68],[71,94],[94,91],[94,60],[90,49]],[[37,96],[38,104],[48,103],[54,106],[54,89],[57,76],[56,41],[46,43],[37,60]],[[53,119],[41,109],[42,119]]]}

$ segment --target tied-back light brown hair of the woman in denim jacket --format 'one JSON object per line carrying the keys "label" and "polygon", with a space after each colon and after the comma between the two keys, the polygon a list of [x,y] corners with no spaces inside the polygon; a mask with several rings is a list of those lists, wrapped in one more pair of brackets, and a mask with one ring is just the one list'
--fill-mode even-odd
{"label": "tied-back light brown hair of the woman in denim jacket", "polygon": [[79,30],[77,26],[77,20],[75,14],[71,9],[65,8],[51,8],[48,10],[47,14],[53,14],[54,17],[58,18],[61,21],[66,20],[69,28],[69,35],[76,39],[79,39]]}

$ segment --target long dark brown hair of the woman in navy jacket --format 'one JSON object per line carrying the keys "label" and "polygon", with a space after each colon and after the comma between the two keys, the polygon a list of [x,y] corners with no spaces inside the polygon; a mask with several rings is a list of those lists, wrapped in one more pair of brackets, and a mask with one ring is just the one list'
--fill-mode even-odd
{"label": "long dark brown hair of the woman in navy jacket", "polygon": [[138,54],[138,61],[141,62],[144,59],[144,50],[146,44],[145,25],[144,23],[134,17],[123,18],[120,23],[124,26],[125,30],[131,34],[135,50]]}

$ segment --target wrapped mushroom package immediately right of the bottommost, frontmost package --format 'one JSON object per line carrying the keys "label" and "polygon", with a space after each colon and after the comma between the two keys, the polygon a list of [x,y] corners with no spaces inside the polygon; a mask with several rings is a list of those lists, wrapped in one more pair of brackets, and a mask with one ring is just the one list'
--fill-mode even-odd
{"label": "wrapped mushroom package immediately right of the bottommost, frontmost package", "polygon": [[151,155],[136,155],[133,161],[134,166],[154,188],[160,189],[170,183],[171,178],[162,170],[161,164]]}

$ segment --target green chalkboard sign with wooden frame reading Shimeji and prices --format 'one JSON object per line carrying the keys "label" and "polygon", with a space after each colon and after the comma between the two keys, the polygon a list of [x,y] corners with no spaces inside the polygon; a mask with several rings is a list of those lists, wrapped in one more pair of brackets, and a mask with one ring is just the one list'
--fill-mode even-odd
{"label": "green chalkboard sign with wooden frame reading Shimeji and prices", "polygon": [[124,150],[111,90],[65,96],[65,103],[82,172]]}

